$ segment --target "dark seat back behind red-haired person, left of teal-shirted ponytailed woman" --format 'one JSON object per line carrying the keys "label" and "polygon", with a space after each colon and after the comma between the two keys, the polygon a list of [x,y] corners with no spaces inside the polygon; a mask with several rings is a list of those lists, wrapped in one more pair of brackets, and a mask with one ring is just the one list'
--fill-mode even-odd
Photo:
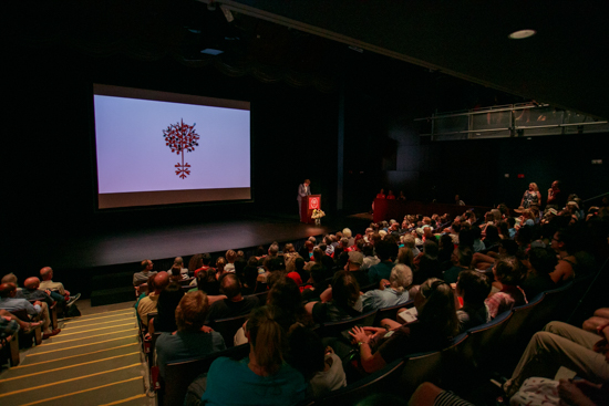
{"label": "dark seat back behind red-haired person, left of teal-shirted ponytailed woman", "polygon": [[249,344],[220,351],[205,358],[169,363],[165,365],[165,377],[161,381],[158,405],[182,406],[188,385],[200,374],[207,373],[216,358],[228,356],[240,360],[249,354]]}

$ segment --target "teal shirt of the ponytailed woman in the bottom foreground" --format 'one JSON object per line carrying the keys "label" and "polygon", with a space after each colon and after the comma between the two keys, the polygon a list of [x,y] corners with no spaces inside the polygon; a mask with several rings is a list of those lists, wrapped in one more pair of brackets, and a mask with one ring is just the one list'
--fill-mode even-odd
{"label": "teal shirt of the ponytailed woman in the bottom foreground", "polygon": [[208,406],[287,406],[307,395],[304,377],[283,363],[273,375],[256,375],[247,365],[249,357],[235,361],[220,356],[207,373],[207,388],[202,400]]}

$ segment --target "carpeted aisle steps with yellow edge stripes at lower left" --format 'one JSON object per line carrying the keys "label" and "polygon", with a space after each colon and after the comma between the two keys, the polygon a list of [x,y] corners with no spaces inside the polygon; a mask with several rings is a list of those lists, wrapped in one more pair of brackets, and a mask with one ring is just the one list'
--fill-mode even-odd
{"label": "carpeted aisle steps with yellow edge stripes at lower left", "polygon": [[[0,404],[153,405],[133,303],[87,308],[0,374]],[[120,308],[120,309],[117,309]],[[112,309],[112,310],[109,310]]]}

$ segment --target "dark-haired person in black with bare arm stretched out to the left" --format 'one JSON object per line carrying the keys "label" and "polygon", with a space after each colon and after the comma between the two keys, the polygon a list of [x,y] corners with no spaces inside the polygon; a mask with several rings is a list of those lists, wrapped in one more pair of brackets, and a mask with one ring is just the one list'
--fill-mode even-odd
{"label": "dark-haired person in black with bare arm stretched out to the left", "polygon": [[455,296],[448,283],[429,279],[416,293],[414,305],[419,313],[416,322],[402,325],[385,319],[381,321],[382,327],[355,326],[349,333],[359,346],[365,372],[379,371],[411,353],[441,350],[457,334]]}

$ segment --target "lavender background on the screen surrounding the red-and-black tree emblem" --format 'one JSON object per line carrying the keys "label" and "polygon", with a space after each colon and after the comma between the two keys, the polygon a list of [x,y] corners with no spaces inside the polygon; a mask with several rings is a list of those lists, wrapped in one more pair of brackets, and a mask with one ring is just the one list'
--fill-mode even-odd
{"label": "lavender background on the screen surrounding the red-and-black tree emblem", "polygon": [[[250,186],[249,111],[102,95],[94,106],[100,194]],[[200,137],[186,179],[163,137],[180,119]]]}

